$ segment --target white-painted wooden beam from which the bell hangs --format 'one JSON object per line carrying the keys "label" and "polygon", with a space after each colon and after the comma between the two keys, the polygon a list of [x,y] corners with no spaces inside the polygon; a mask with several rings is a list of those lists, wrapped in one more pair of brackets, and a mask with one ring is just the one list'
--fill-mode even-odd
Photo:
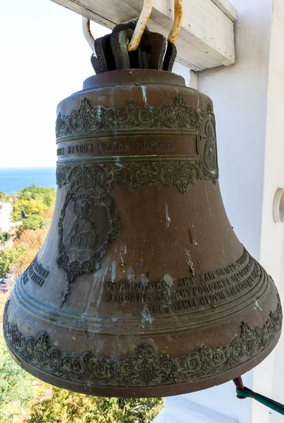
{"label": "white-painted wooden beam from which the bell hangs", "polygon": [[[142,0],[52,1],[109,28],[137,18],[143,4]],[[233,64],[234,32],[233,20],[226,9],[230,5],[228,0],[186,0],[183,4],[183,23],[176,40],[177,60],[193,71]],[[221,4],[227,13],[221,10]],[[173,18],[174,0],[154,0],[148,27],[167,37]]]}

